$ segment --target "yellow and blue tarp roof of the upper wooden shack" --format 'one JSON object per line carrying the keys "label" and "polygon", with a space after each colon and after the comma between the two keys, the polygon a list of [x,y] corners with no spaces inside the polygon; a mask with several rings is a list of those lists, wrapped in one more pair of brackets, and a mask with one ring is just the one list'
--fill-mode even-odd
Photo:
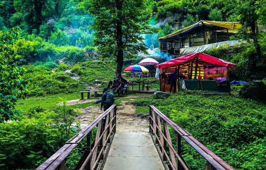
{"label": "yellow and blue tarp roof of the upper wooden shack", "polygon": [[190,26],[183,28],[181,30],[178,30],[177,32],[173,32],[167,36],[160,37],[160,38],[158,38],[158,40],[170,38],[173,36],[178,37],[179,34],[185,34],[185,33],[189,32],[190,30],[192,30],[193,28],[197,28],[197,27],[202,26],[202,25],[206,25],[206,26],[210,26],[210,27],[211,26],[218,26],[218,27],[220,27],[219,30],[227,30],[228,29],[231,32],[232,31],[237,32],[237,28],[242,26],[238,22],[199,21],[198,23],[190,25]]}

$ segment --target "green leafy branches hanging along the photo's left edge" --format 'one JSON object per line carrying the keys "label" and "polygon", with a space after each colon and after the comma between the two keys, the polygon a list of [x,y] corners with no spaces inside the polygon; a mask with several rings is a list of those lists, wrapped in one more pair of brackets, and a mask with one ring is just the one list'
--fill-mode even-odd
{"label": "green leafy branches hanging along the photo's left edge", "polygon": [[23,78],[25,69],[14,62],[17,51],[13,50],[14,38],[18,29],[3,33],[0,31],[0,122],[14,119],[18,111],[14,111],[18,98],[28,94],[26,85],[29,79]]}

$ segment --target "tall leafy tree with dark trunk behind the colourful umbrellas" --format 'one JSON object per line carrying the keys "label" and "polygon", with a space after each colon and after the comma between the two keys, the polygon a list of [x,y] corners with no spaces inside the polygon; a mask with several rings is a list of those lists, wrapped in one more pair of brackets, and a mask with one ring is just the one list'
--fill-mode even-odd
{"label": "tall leafy tree with dark trunk behind the colourful umbrellas", "polygon": [[89,12],[96,17],[94,45],[103,57],[116,59],[116,76],[121,77],[125,58],[139,52],[147,54],[142,34],[153,34],[149,26],[152,9],[149,0],[91,0]]}

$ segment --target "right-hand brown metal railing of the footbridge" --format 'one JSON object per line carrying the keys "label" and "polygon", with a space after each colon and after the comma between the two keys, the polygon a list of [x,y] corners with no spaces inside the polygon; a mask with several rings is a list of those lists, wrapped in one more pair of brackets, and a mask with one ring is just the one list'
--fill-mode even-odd
{"label": "right-hand brown metal railing of the footbridge", "polygon": [[[176,149],[172,145],[168,125],[175,130]],[[234,169],[153,105],[150,105],[150,134],[165,169],[189,169],[181,153],[182,138],[206,159],[206,170]]]}

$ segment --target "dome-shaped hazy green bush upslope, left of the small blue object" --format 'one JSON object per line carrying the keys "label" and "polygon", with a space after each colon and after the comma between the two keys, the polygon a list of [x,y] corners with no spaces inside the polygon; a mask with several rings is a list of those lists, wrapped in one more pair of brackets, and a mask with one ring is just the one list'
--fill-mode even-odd
{"label": "dome-shaped hazy green bush upslope, left of the small blue object", "polygon": [[55,44],[58,47],[70,45],[69,36],[65,31],[62,31],[59,28],[57,29],[56,32],[53,32],[51,34],[51,36],[48,38],[48,42]]}

